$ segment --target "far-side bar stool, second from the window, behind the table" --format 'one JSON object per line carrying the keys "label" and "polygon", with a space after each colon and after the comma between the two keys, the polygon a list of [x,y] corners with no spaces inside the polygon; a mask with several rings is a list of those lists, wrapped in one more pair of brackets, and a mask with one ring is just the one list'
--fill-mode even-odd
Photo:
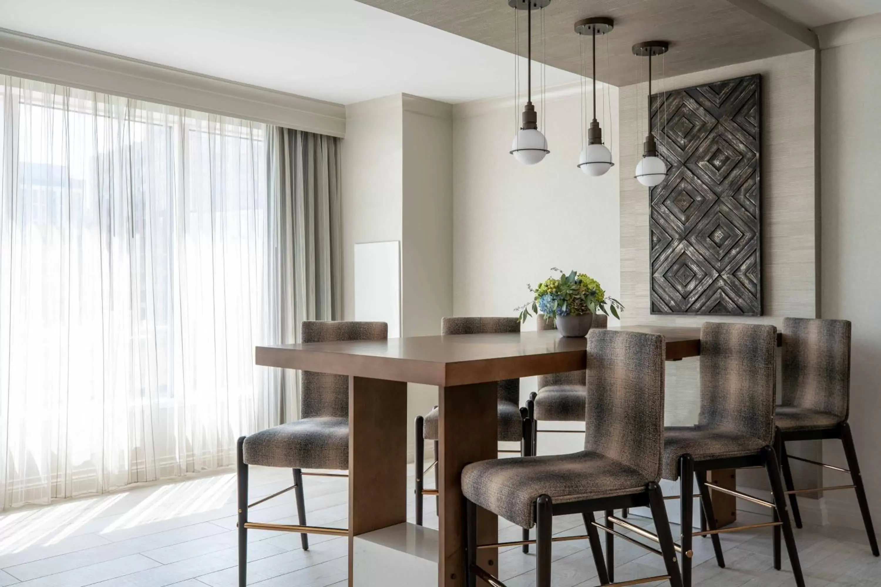
{"label": "far-side bar stool, second from the window, behind the table", "polygon": [[[516,318],[483,318],[483,317],[464,317],[464,318],[444,318],[441,320],[441,334],[499,334],[499,333],[519,333],[520,320]],[[499,411],[499,442],[521,442],[524,435],[529,435],[531,428],[525,430],[523,422],[526,417],[525,408],[521,410],[520,404],[520,379],[505,379],[499,382],[498,391],[498,411]],[[416,417],[416,524],[422,525],[423,501],[422,495],[438,495],[438,419],[441,412],[437,406],[425,417]],[[434,442],[434,462],[422,471],[421,463],[425,458],[425,441],[432,440]],[[521,455],[532,454],[529,447],[532,446],[531,440],[521,444],[520,451],[501,450],[501,453],[515,452]],[[425,488],[425,475],[434,468],[434,487],[435,489]],[[529,531],[526,532],[525,538],[529,539]],[[526,552],[524,548],[524,552]]]}

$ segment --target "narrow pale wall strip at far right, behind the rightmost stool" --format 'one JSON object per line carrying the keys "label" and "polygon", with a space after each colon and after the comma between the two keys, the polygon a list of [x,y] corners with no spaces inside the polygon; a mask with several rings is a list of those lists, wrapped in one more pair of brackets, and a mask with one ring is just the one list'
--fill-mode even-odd
{"label": "narrow pale wall strip at far right, behind the rightmost stool", "polygon": [[[862,19],[859,19],[862,20]],[[877,19],[876,19],[877,20]],[[876,528],[881,524],[881,24],[875,38],[821,53],[822,316],[853,323],[850,423]],[[845,465],[838,441],[824,460]],[[825,485],[849,484],[828,471]],[[825,494],[829,521],[862,527],[852,491]]]}

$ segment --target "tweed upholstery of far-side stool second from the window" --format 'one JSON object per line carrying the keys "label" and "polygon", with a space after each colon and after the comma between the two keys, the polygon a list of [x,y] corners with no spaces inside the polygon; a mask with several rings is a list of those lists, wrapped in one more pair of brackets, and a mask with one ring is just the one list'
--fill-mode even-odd
{"label": "tweed upholstery of far-side stool second from the window", "polygon": [[[481,316],[441,319],[441,334],[500,334],[519,333],[520,320],[507,316],[485,318]],[[520,415],[520,379],[504,379],[499,382],[499,440],[519,442],[523,437],[523,418]],[[422,437],[437,440],[438,420],[441,412],[435,407],[426,415]]]}

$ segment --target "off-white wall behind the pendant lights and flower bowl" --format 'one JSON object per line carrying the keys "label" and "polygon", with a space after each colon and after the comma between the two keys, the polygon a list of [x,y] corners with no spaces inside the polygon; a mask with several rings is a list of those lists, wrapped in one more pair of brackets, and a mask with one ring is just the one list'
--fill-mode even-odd
{"label": "off-white wall behind the pendant lights and flower bowl", "polygon": [[[618,162],[617,88],[610,88],[610,99],[614,120],[603,117],[599,105],[597,118]],[[456,316],[515,316],[515,306],[530,301],[527,283],[535,286],[552,275],[552,267],[592,275],[609,295],[619,297],[620,167],[600,178],[589,178],[577,168],[580,106],[577,86],[549,92],[544,132],[551,153],[537,165],[521,165],[508,153],[515,136],[510,99],[454,107]],[[535,320],[523,329],[534,330]],[[523,400],[535,389],[536,378],[521,379]],[[583,424],[573,427],[583,429]],[[539,451],[577,450],[581,442],[578,435],[543,435]]]}

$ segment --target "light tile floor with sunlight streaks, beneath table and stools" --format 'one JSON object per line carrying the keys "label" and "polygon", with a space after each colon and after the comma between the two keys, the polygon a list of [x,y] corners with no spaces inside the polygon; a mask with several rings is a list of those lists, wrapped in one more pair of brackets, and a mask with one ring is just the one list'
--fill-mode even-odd
{"label": "light tile floor with sunlight streaks, beneath table and stools", "polygon": [[[285,488],[285,469],[251,468],[251,499]],[[344,527],[344,479],[307,477],[310,525]],[[411,497],[412,502],[412,497]],[[412,504],[409,504],[412,516]],[[740,523],[762,521],[739,512]],[[293,495],[285,494],[252,510],[254,521],[296,523]],[[236,587],[235,475],[224,471],[172,483],[132,487],[118,493],[13,510],[0,516],[0,587]],[[647,525],[648,520],[641,520]],[[426,525],[437,527],[434,500],[426,498]],[[560,535],[583,533],[581,517],[554,519]],[[500,520],[500,539],[520,538],[520,529]],[[673,527],[678,534],[677,526]],[[348,569],[344,538],[312,535],[310,549],[300,536],[249,532],[248,583],[261,587],[344,585]],[[881,560],[870,554],[862,531],[813,526],[796,540],[809,587],[881,586]],[[772,568],[771,532],[722,535],[727,568],[715,565],[708,539],[696,539],[694,584],[713,587],[794,585],[788,561]],[[655,554],[616,542],[616,579],[663,574]],[[553,547],[554,587],[596,585],[587,543]],[[501,578],[509,587],[535,584],[535,557],[519,547],[500,554]],[[665,584],[665,583],[662,583]]]}

